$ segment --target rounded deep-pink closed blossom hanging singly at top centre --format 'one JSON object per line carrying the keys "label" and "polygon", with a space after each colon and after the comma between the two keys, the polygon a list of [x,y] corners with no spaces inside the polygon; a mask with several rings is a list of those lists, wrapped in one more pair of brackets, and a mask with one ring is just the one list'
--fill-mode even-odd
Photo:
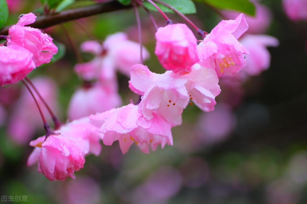
{"label": "rounded deep-pink closed blossom hanging singly at top centre", "polygon": [[160,27],[156,39],[155,54],[165,69],[186,73],[198,62],[197,39],[187,25]]}

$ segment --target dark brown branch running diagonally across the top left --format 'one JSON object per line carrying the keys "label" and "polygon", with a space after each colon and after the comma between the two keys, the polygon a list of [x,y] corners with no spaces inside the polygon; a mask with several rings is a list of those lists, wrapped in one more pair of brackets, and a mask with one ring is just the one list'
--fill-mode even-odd
{"label": "dark brown branch running diagonally across the top left", "polygon": [[[79,18],[89,17],[100,13],[107,13],[122,9],[131,8],[131,6],[124,6],[118,1],[97,3],[91,6],[85,6],[77,9],[65,10],[60,13],[48,14],[43,16],[38,16],[36,21],[29,26],[33,28],[48,28],[52,25],[58,25],[67,21],[76,20]],[[7,35],[8,30],[11,26],[6,26],[0,30],[0,35]]]}

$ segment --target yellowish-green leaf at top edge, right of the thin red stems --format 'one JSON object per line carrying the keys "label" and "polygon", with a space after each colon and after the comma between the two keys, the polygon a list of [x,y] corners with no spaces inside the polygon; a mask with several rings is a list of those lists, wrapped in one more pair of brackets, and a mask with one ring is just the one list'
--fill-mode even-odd
{"label": "yellowish-green leaf at top edge, right of the thin red stems", "polygon": [[230,9],[255,16],[255,5],[249,0],[198,0],[216,9]]}

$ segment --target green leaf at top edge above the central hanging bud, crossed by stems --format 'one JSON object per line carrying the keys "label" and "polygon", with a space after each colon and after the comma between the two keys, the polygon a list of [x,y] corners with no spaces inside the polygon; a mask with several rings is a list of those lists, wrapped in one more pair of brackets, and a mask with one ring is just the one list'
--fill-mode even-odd
{"label": "green leaf at top edge above the central hanging bud, crossed by stems", "polygon": [[[170,6],[173,6],[175,9],[177,9],[179,12],[183,14],[196,13],[195,4],[191,0],[162,0],[162,1],[169,4]],[[147,9],[157,11],[157,9],[149,2],[143,2],[143,4]],[[160,7],[160,9],[163,12],[174,13],[173,10],[169,9],[168,7],[159,3],[156,4],[157,6]]]}

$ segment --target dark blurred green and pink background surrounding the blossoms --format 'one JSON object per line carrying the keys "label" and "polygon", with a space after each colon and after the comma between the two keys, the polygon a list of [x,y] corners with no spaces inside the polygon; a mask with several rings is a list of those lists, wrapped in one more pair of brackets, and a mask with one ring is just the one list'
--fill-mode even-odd
{"label": "dark blurred green and pink background surrounding the blossoms", "polygon": [[[230,0],[231,1],[231,0]],[[195,2],[197,13],[188,15],[207,32],[222,18],[201,2]],[[222,83],[216,98],[216,110],[203,113],[188,106],[183,124],[172,129],[174,146],[150,154],[136,146],[122,155],[119,144],[103,145],[102,153],[86,158],[76,180],[50,182],[27,167],[32,151],[28,142],[44,134],[41,121],[31,119],[38,111],[23,114],[29,119],[31,137],[23,138],[23,129],[12,123],[31,104],[22,101],[22,84],[0,87],[0,194],[26,195],[28,203],[204,203],[204,204],[294,204],[307,203],[307,22],[293,22],[286,16],[280,0],[263,0],[272,19],[266,33],[278,38],[280,45],[269,48],[271,66],[245,83]],[[18,15],[39,12],[40,2],[22,0],[11,9],[7,25],[16,23]],[[143,42],[151,57],[146,65],[163,73],[154,55],[155,30],[146,13],[139,9],[143,25]],[[152,12],[161,26],[165,22]],[[174,22],[184,22],[169,14]],[[132,9],[105,13],[82,19],[99,39],[125,31],[138,41]],[[65,23],[72,40],[79,46],[87,34],[75,22]],[[68,102],[81,81],[73,71],[76,57],[63,30],[54,26],[45,30],[66,48],[64,58],[37,68],[30,79],[50,80],[44,93],[66,120]],[[93,58],[82,54],[83,60]],[[40,78],[40,79],[37,79]],[[127,86],[128,78],[118,74],[119,93],[123,104],[137,100]],[[16,107],[19,107],[17,109]],[[36,117],[37,118],[37,117]],[[36,125],[33,125],[36,123]],[[14,124],[13,124],[14,126]],[[11,131],[19,131],[13,137]],[[10,202],[13,203],[13,202]],[[19,203],[19,202],[16,202]]]}

